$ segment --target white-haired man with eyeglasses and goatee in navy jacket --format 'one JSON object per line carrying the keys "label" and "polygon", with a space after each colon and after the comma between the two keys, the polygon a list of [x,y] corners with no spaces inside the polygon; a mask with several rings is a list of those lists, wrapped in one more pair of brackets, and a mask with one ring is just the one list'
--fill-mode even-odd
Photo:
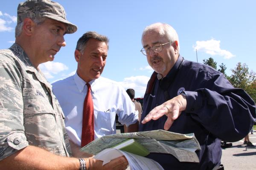
{"label": "white-haired man with eyeglasses and goatee in navy jacket", "polygon": [[223,170],[220,139],[235,142],[249,133],[256,118],[255,103],[222,73],[180,56],[178,35],[168,24],[146,27],[142,44],[141,52],[154,73],[143,99],[139,131],[194,133],[201,145],[196,151],[199,163],[179,162],[163,153],[147,157],[166,170]]}

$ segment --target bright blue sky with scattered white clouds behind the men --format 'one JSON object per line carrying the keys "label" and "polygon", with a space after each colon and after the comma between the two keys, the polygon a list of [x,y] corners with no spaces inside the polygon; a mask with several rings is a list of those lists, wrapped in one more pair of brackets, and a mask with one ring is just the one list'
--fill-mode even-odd
{"label": "bright blue sky with scattered white clouds behind the men", "polygon": [[[17,6],[20,0],[2,1],[0,6],[0,49],[15,41]],[[53,62],[40,65],[49,82],[76,71],[76,42],[86,31],[109,37],[108,59],[102,76],[145,93],[153,70],[140,53],[141,34],[152,23],[168,23],[180,39],[180,54],[198,62],[212,57],[226,65],[227,75],[238,62],[256,71],[255,0],[56,0],[64,6],[67,19],[78,26],[65,35],[67,46]]]}

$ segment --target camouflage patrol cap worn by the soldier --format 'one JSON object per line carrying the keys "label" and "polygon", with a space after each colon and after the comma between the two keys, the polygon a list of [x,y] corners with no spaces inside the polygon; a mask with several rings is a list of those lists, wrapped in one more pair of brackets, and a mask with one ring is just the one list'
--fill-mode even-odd
{"label": "camouflage patrol cap worn by the soldier", "polygon": [[19,4],[17,8],[17,23],[22,22],[25,18],[35,19],[40,17],[47,17],[66,23],[67,34],[72,34],[77,30],[77,26],[67,20],[66,12],[59,3],[51,0],[27,0]]}

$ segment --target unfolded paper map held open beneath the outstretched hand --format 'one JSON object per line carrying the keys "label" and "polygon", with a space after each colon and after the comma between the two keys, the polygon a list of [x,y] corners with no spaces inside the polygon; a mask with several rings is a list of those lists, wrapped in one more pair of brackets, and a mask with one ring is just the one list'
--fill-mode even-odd
{"label": "unfolded paper map held open beneath the outstretched hand", "polygon": [[199,162],[195,150],[201,150],[194,133],[180,134],[166,130],[152,130],[134,133],[119,133],[102,136],[90,142],[81,151],[96,155],[125,140],[133,138],[143,145],[150,153],[169,153],[179,161]]}

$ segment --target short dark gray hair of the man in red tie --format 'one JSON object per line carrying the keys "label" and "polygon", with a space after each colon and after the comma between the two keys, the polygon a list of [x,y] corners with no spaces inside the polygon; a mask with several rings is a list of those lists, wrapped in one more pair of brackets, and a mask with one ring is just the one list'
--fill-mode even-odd
{"label": "short dark gray hair of the man in red tie", "polygon": [[76,50],[79,50],[81,52],[81,54],[83,54],[86,43],[91,38],[101,41],[101,42],[105,42],[106,45],[108,46],[108,42],[109,42],[108,37],[98,34],[95,31],[88,31],[85,34],[83,34],[82,37],[80,37],[79,40],[77,41]]}

